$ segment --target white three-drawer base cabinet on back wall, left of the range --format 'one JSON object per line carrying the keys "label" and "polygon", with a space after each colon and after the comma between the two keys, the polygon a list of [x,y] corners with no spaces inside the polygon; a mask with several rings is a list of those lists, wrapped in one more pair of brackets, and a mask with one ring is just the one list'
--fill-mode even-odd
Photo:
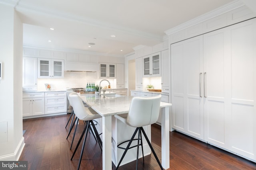
{"label": "white three-drawer base cabinet on back wall, left of the range", "polygon": [[45,92],[45,114],[67,111],[66,92]]}

